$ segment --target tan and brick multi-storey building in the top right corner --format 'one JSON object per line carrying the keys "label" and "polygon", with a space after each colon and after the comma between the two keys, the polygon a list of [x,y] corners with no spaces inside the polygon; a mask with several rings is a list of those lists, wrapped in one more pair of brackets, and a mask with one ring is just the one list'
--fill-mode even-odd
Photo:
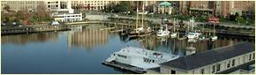
{"label": "tan and brick multi-storey building in the top right corner", "polygon": [[254,16],[254,1],[181,1],[179,11],[183,14],[212,14],[227,17],[230,14]]}

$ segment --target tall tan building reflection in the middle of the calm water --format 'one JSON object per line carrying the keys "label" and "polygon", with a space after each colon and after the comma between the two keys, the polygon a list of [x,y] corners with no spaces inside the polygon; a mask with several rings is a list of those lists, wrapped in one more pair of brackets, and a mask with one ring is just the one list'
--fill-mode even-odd
{"label": "tall tan building reflection in the middle of the calm water", "polygon": [[106,45],[109,38],[108,31],[101,31],[101,25],[82,26],[80,32],[70,31],[68,34],[68,48],[93,49]]}

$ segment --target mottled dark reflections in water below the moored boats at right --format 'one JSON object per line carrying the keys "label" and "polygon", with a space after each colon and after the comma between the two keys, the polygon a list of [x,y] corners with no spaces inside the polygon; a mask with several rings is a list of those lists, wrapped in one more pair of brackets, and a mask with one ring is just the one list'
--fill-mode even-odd
{"label": "mottled dark reflections in water below the moored boats at right", "polygon": [[186,40],[179,41],[177,39],[169,37],[157,37],[155,35],[149,35],[141,39],[140,43],[142,48],[158,50],[162,52],[168,52],[177,54],[179,56],[192,55],[194,53],[200,53],[209,49],[216,49],[223,46],[233,45],[242,41],[250,41],[254,43],[254,39],[241,37],[221,36],[216,41],[196,41],[188,42]]}

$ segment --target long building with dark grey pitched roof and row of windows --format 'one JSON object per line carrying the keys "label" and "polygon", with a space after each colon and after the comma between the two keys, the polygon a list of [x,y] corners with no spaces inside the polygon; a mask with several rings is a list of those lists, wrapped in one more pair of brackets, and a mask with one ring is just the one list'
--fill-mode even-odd
{"label": "long building with dark grey pitched roof and row of windows", "polygon": [[[254,47],[251,42],[241,42],[190,56],[182,56],[160,64],[160,73],[212,74],[241,71],[242,67],[255,64]],[[254,73],[254,68],[248,72]]]}

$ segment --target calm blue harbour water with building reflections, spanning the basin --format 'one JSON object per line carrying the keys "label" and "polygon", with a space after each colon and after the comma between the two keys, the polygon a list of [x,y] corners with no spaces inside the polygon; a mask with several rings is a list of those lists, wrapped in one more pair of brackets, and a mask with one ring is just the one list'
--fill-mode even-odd
{"label": "calm blue harbour water with building reflections, spanning the basin", "polygon": [[102,25],[64,32],[2,35],[2,73],[131,73],[102,64],[107,57],[129,46],[186,56],[235,44],[248,38],[219,36],[217,41],[178,41],[149,35],[130,39],[101,31]]}

